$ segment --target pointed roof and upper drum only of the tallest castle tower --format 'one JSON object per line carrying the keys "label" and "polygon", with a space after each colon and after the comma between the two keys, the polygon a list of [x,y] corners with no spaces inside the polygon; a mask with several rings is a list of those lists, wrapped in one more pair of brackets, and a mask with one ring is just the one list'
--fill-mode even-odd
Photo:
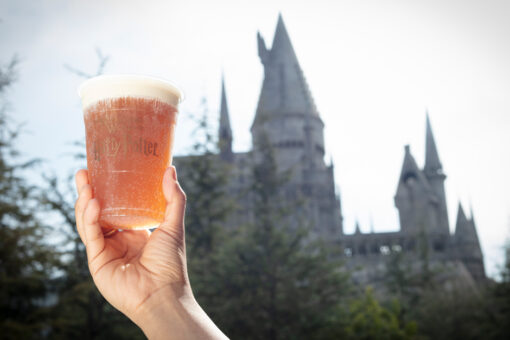
{"label": "pointed roof and upper drum only of the tallest castle tower", "polygon": [[281,170],[296,164],[325,168],[324,124],[319,117],[281,15],[271,49],[257,35],[264,81],[251,132],[254,149],[268,138]]}

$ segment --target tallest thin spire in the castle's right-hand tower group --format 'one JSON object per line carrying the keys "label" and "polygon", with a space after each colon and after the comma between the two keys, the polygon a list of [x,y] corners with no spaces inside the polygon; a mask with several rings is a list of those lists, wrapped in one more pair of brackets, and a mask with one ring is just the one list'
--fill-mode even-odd
{"label": "tallest thin spire in the castle's right-hand tower group", "polygon": [[426,117],[427,132],[423,173],[427,177],[430,187],[437,198],[437,202],[434,204],[437,215],[437,225],[434,228],[434,232],[441,234],[443,237],[448,237],[450,235],[450,224],[448,222],[448,210],[446,207],[446,195],[444,190],[446,175],[443,172],[443,166],[439,160],[428,112]]}

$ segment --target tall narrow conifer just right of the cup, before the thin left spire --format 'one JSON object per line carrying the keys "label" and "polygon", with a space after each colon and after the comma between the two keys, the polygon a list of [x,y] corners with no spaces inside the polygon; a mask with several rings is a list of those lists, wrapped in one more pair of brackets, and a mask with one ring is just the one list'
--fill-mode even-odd
{"label": "tall narrow conifer just right of the cup, before the thin left spire", "polygon": [[202,308],[214,309],[216,279],[210,268],[216,267],[215,254],[223,246],[225,223],[232,212],[228,197],[229,166],[220,161],[217,142],[208,123],[206,101],[203,111],[192,116],[196,123],[191,155],[175,159],[179,182],[187,196],[186,252],[188,274],[194,295]]}

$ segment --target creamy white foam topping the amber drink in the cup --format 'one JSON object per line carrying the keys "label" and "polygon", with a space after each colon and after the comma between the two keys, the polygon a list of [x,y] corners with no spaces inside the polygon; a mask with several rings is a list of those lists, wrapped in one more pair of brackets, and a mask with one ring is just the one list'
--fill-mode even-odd
{"label": "creamy white foam topping the amber drink in the cup", "polygon": [[159,99],[177,105],[182,101],[182,92],[168,81],[137,75],[102,75],[90,78],[78,88],[82,106],[99,100],[121,97],[141,97]]}

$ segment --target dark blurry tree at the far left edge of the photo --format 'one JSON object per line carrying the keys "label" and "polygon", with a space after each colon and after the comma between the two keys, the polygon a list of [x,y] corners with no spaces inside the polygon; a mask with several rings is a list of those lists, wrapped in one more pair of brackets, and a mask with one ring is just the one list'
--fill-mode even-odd
{"label": "dark blurry tree at the far left edge of the photo", "polygon": [[48,226],[34,213],[35,186],[25,178],[36,160],[16,149],[20,128],[12,128],[5,92],[17,61],[0,68],[0,333],[4,339],[40,338],[54,295],[51,281],[58,254],[45,243]]}

